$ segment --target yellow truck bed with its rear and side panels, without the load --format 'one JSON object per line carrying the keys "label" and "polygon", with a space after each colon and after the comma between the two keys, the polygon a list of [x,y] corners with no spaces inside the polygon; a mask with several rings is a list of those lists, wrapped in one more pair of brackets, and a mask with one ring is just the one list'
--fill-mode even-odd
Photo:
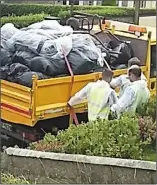
{"label": "yellow truck bed with its rear and side panels, without the load", "polygon": [[[145,66],[142,69],[146,71]],[[114,76],[125,73],[126,69],[116,70]],[[45,80],[33,77],[32,88],[1,80],[1,119],[33,127],[40,120],[68,115],[70,96],[101,77],[100,72],[74,76],[72,88],[70,76]],[[86,112],[86,101],[74,109],[76,113]]]}

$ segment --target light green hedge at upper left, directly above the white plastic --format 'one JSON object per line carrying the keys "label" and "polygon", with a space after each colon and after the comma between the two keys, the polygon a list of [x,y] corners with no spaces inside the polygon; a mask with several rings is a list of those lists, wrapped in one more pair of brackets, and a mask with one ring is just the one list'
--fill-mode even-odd
{"label": "light green hedge at upper left, directly above the white plastic", "polygon": [[36,15],[28,15],[28,16],[9,16],[9,17],[2,17],[1,18],[1,25],[5,23],[13,23],[17,28],[23,28],[35,22],[42,21],[44,17],[47,15],[45,14],[36,14]]}

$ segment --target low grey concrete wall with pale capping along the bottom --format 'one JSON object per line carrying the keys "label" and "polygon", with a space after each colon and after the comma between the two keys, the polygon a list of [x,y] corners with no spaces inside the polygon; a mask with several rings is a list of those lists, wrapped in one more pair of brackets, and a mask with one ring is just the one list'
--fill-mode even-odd
{"label": "low grey concrete wall with pale capping along the bottom", "polygon": [[1,168],[32,183],[156,184],[156,163],[8,148]]}

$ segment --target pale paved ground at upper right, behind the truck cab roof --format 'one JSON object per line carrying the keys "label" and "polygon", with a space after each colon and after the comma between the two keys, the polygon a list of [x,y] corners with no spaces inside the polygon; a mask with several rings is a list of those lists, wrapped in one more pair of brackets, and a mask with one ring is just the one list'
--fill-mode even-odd
{"label": "pale paved ground at upper right, behind the truck cab roof", "polygon": [[156,16],[140,17],[139,24],[143,26],[156,27]]}

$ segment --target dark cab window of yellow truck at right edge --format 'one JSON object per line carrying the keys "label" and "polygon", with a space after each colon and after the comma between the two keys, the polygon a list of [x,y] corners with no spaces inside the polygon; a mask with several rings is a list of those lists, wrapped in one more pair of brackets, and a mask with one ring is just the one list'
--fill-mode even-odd
{"label": "dark cab window of yellow truck at right edge", "polygon": [[151,69],[150,75],[156,77],[156,45],[151,46]]}

